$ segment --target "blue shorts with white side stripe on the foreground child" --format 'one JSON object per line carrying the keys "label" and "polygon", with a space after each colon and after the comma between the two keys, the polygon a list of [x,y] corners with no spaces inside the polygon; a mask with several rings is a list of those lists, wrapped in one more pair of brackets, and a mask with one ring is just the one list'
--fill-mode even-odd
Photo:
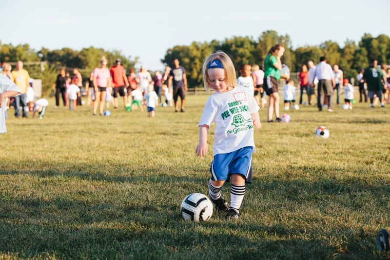
{"label": "blue shorts with white side stripe on the foreground child", "polygon": [[252,183],[252,146],[227,154],[217,154],[211,162],[211,180],[230,181],[232,174],[241,174],[245,182]]}

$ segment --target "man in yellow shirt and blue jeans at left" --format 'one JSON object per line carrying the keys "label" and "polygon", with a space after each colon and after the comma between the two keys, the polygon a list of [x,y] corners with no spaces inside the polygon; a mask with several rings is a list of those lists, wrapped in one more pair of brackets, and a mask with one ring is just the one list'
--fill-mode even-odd
{"label": "man in yellow shirt and blue jeans at left", "polygon": [[20,88],[21,95],[15,97],[15,117],[20,117],[20,105],[22,109],[22,117],[27,118],[28,106],[27,106],[27,87],[30,85],[30,75],[23,69],[23,62],[18,60],[16,63],[16,70],[12,71],[12,78],[14,83]]}

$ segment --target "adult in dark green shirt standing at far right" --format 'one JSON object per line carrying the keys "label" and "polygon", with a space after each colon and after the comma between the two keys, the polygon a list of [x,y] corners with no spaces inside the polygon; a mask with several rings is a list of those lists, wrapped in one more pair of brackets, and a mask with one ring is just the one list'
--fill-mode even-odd
{"label": "adult in dark green shirt standing at far right", "polygon": [[[367,83],[368,96],[370,99],[370,107],[374,107],[374,97],[382,100],[382,69],[378,69],[378,60],[373,60],[370,67],[366,68],[363,72],[363,79]],[[381,102],[381,107],[385,104]]]}

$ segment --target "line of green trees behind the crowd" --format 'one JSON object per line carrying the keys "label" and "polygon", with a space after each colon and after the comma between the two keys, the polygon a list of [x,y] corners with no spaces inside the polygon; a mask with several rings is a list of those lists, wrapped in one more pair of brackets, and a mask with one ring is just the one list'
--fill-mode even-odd
{"label": "line of green trees behind the crowd", "polygon": [[[173,60],[178,58],[180,65],[187,71],[189,87],[195,87],[202,85],[203,60],[215,50],[228,53],[238,70],[239,65],[243,63],[262,65],[268,50],[276,43],[281,43],[285,47],[282,62],[289,66],[292,72],[299,71],[301,65],[307,64],[308,60],[317,63],[321,56],[326,56],[331,65],[338,64],[347,78],[356,77],[358,71],[367,67],[373,59],[378,60],[379,64],[390,62],[390,38],[384,34],[372,37],[366,33],[357,43],[347,39],[344,47],[340,47],[337,42],[327,40],[318,45],[306,45],[294,49],[289,35],[278,35],[272,30],[261,33],[258,39],[237,36],[225,40],[194,41],[190,45],[176,45],[169,48],[160,61],[164,65],[172,66]],[[42,79],[43,89],[51,87],[59,67],[77,67],[83,74],[83,78],[88,78],[89,72],[98,66],[102,56],[107,58],[108,64],[114,64],[115,60],[120,58],[126,71],[134,68],[139,59],[126,57],[118,50],[107,51],[92,46],[80,51],[71,48],[56,50],[41,48],[35,51],[28,44],[13,46],[2,44],[0,41],[0,60],[45,62],[43,72],[37,66],[29,68],[32,78]]]}

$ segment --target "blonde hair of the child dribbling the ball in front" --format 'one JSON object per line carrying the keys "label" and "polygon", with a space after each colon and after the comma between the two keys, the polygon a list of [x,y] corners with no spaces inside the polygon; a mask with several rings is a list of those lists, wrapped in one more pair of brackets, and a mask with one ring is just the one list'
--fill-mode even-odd
{"label": "blonde hair of the child dribbling the ball in front", "polygon": [[219,60],[222,63],[223,69],[225,70],[225,82],[228,87],[235,87],[237,83],[237,79],[235,77],[235,69],[232,59],[230,59],[229,55],[224,53],[223,51],[216,51],[207,57],[202,66],[203,71],[203,85],[207,91],[210,91],[212,87],[210,86],[210,78],[208,73],[207,66],[212,60]]}

